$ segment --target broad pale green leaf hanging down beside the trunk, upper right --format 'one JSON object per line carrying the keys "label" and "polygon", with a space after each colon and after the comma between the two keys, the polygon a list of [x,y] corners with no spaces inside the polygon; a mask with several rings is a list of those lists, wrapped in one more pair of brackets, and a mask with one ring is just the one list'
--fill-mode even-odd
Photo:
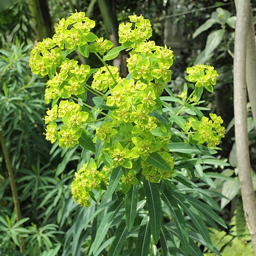
{"label": "broad pale green leaf hanging down beside the trunk, upper right", "polygon": [[211,54],[218,47],[218,45],[221,43],[224,34],[225,34],[225,29],[219,29],[219,30],[213,31],[207,37],[207,41],[206,41],[206,45],[205,45],[205,52],[204,52],[205,60],[209,60],[211,58],[210,57]]}

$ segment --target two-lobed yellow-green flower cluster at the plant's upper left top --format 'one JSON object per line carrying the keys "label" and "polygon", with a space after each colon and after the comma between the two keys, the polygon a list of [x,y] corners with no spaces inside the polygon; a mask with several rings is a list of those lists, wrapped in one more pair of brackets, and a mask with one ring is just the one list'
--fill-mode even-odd
{"label": "two-lobed yellow-green flower cluster at the plant's upper left top", "polygon": [[56,34],[52,39],[43,39],[31,51],[31,71],[52,78],[68,53],[97,39],[95,35],[90,34],[94,26],[95,22],[85,17],[84,12],[71,13],[67,20],[61,19],[55,27]]}

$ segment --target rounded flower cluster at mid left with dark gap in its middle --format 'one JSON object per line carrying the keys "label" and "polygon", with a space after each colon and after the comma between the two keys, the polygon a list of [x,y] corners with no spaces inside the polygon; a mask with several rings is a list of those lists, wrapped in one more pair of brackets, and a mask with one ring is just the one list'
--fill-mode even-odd
{"label": "rounded flower cluster at mid left with dark gap in its middle", "polygon": [[[44,118],[46,126],[46,140],[59,141],[60,147],[74,147],[82,134],[83,124],[89,114],[81,111],[82,107],[73,101],[61,100],[59,106],[56,104],[52,109],[46,111]],[[60,131],[57,131],[57,123],[62,121]]]}

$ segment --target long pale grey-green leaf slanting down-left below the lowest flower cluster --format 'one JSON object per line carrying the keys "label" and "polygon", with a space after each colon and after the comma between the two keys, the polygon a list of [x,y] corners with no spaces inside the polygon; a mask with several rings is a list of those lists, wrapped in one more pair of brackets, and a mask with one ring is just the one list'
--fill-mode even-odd
{"label": "long pale grey-green leaf slanting down-left below the lowest flower cluster", "polygon": [[122,207],[123,207],[123,202],[121,204],[119,204],[119,206],[117,207],[117,209],[114,212],[108,212],[103,216],[103,218],[100,222],[100,226],[97,230],[95,239],[92,243],[89,254],[91,254],[91,252],[93,252],[93,254],[95,254],[98,251],[103,239],[105,238],[106,234],[108,233],[108,229],[111,227],[111,225],[114,221],[114,218],[116,217],[116,214],[120,211],[120,209]]}

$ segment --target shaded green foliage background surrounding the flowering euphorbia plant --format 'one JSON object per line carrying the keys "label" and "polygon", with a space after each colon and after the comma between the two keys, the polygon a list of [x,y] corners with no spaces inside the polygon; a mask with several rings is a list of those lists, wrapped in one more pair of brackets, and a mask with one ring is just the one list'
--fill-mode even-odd
{"label": "shaded green foliage background surrounding the flowering euphorbia plant", "polygon": [[[37,10],[33,8],[36,5],[39,6]],[[74,203],[70,194],[73,173],[89,160],[90,155],[79,147],[68,150],[58,148],[57,144],[51,146],[43,135],[45,127],[42,117],[49,107],[44,102],[46,81],[31,75],[28,67],[29,53],[35,41],[51,36],[53,24],[58,19],[66,18],[75,10],[85,11],[87,16],[93,19],[97,17],[97,34],[110,38],[115,44],[118,44],[118,23],[127,21],[128,15],[143,13],[149,18],[153,23],[153,39],[156,44],[166,43],[174,51],[173,79],[169,87],[175,95],[183,91],[183,72],[186,67],[192,66],[193,63],[206,62],[218,70],[220,77],[214,97],[206,93],[203,96],[203,106],[205,109],[211,107],[215,113],[222,116],[225,126],[228,126],[227,137],[223,140],[222,151],[217,158],[205,159],[204,165],[195,167],[189,177],[194,188],[190,196],[199,199],[196,188],[203,189],[203,199],[209,200],[215,210],[220,210],[215,201],[220,203],[223,209],[220,214],[228,229],[212,229],[211,238],[221,255],[252,255],[250,236],[241,207],[234,147],[232,66],[235,5],[234,2],[225,0],[0,1],[0,126],[10,157],[21,210],[19,219],[13,210],[15,198],[12,196],[1,148],[0,254],[89,255],[92,241],[95,237],[98,238],[99,226],[102,228],[108,225],[106,239],[102,238],[93,247],[93,255],[107,255],[109,244],[114,239],[116,225],[123,218],[122,205],[119,208],[120,213],[113,215],[112,221],[103,218],[107,213],[113,213],[119,205],[118,194],[114,195],[111,202],[106,198],[106,203],[100,206],[93,203],[89,209]],[[253,12],[255,13],[255,3]],[[39,15],[45,19],[36,20],[35,17]],[[47,22],[43,23],[42,20]],[[79,54],[74,58],[82,63],[85,61]],[[123,59],[125,60],[125,56]],[[123,59],[115,61],[123,68],[125,74]],[[95,67],[98,65],[97,60],[91,56],[86,61],[89,61],[90,65],[93,63]],[[248,109],[251,163],[252,167],[255,167],[255,127],[250,105]],[[181,171],[190,173],[189,168],[184,166]],[[252,173],[255,184],[255,173]],[[176,182],[179,189],[183,188],[184,193],[188,193],[189,180]],[[220,193],[223,195],[221,199]],[[143,203],[145,204],[141,200],[139,205],[142,207]],[[164,209],[164,214],[171,215],[167,208]],[[139,229],[141,219],[145,224],[143,228],[146,234],[148,220],[144,216],[143,212],[140,213],[138,226],[133,228],[127,239],[125,237],[122,255],[129,255],[129,248],[136,246],[135,238],[142,232]],[[186,221],[189,222],[188,219]],[[193,223],[189,222],[188,225],[193,226]],[[218,228],[213,223],[208,225]],[[171,234],[174,237],[172,243],[179,244],[179,236],[175,232],[172,223],[166,223],[161,243]],[[201,237],[195,237],[192,232],[189,237],[191,250],[197,250],[196,244],[201,245],[204,255],[216,255],[207,251]],[[165,253],[165,250],[173,247],[172,243],[169,242],[163,249],[160,245],[152,244],[150,255]],[[177,253],[183,255],[182,252]]]}

